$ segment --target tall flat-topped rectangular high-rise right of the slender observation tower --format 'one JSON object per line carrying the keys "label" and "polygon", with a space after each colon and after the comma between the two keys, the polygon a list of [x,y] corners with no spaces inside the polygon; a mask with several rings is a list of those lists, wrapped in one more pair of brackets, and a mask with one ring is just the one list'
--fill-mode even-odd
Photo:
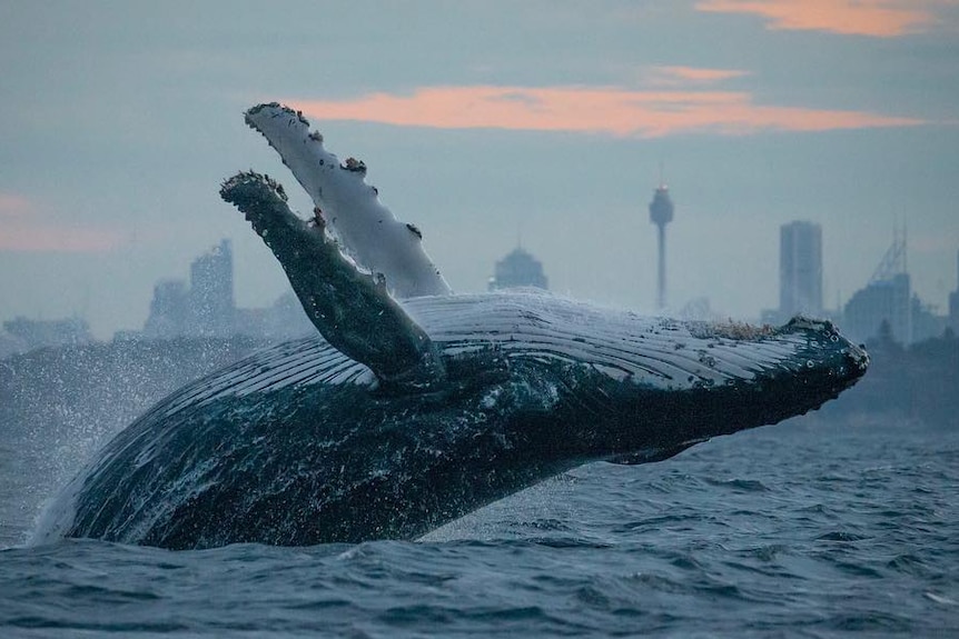
{"label": "tall flat-topped rectangular high-rise right of the slender observation tower", "polygon": [[779,312],[822,314],[822,229],[813,222],[780,227]]}

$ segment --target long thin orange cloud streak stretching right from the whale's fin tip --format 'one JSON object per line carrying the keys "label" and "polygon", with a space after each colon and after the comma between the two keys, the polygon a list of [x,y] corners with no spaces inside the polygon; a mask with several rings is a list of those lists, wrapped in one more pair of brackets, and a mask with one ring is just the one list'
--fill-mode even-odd
{"label": "long thin orange cloud streak stretching right from the whale's fin tip", "polygon": [[828,131],[925,123],[862,111],[763,106],[738,91],[634,91],[586,87],[432,87],[354,100],[293,100],[316,120],[438,129],[571,131],[655,138],[684,133]]}

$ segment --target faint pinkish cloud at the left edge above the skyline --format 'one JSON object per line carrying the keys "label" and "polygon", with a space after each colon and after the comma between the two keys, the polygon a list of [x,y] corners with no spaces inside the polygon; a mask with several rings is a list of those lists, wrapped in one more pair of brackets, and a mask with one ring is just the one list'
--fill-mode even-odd
{"label": "faint pinkish cloud at the left edge above the skyline", "polygon": [[0,251],[105,252],[119,246],[119,231],[80,228],[43,220],[45,211],[21,196],[0,193]]}

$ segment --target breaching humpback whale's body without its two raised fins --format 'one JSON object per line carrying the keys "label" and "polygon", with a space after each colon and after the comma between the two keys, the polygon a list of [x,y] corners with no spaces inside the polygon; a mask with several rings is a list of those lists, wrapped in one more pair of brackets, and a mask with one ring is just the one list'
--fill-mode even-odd
{"label": "breaching humpback whale's body without its two raised fins", "polygon": [[377,390],[322,337],[269,349],[117,437],[60,531],[169,548],[412,539],[586,461],[660,460],[818,408],[864,361],[822,322],[743,339],[536,293],[405,306],[453,362],[447,388]]}

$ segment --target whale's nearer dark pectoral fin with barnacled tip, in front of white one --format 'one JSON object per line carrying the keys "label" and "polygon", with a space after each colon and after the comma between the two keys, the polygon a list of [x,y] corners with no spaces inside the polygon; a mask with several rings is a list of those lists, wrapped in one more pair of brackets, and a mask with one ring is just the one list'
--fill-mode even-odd
{"label": "whale's nearer dark pectoral fin with barnacled tip, in front of white one", "polygon": [[286,271],[306,314],[337,350],[369,367],[382,383],[428,389],[444,377],[429,337],[396,300],[382,276],[360,271],[340,253],[317,216],[298,218],[283,187],[268,176],[241,172],[220,197],[250,221]]}

